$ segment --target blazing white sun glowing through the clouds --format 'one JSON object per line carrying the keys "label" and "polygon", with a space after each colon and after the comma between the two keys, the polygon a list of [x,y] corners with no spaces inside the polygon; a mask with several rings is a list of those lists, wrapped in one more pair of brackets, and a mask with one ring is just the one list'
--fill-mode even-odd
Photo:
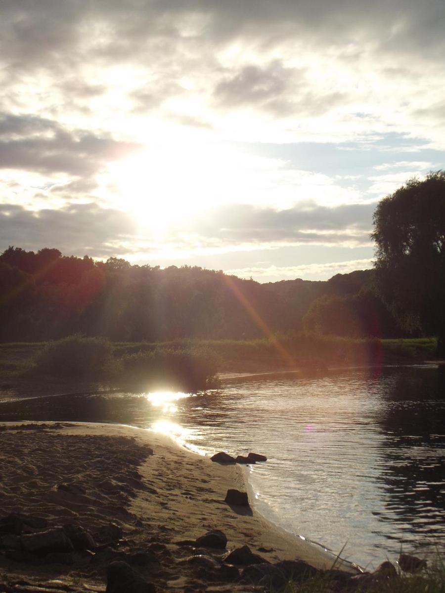
{"label": "blazing white sun glowing through the clouds", "polygon": [[244,199],[251,186],[242,155],[215,144],[158,144],[109,165],[113,206],[142,229],[166,234],[217,205]]}

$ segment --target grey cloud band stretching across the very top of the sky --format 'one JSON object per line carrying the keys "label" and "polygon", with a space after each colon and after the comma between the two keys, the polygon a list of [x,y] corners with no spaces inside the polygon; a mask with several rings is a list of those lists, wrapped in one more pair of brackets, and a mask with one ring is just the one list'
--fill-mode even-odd
{"label": "grey cloud band stretching across the very top of the sky", "polygon": [[262,47],[372,39],[390,52],[425,54],[444,47],[444,16],[443,0],[4,0],[0,37],[14,68],[69,69],[76,59],[125,59],[159,40],[190,45],[196,38],[220,44],[242,37]]}

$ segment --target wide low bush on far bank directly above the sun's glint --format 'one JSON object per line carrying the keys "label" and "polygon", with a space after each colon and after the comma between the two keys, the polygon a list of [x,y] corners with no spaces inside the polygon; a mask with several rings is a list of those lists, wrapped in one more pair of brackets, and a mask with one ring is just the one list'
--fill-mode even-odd
{"label": "wide low bush on far bank directly above the sun's glint", "polygon": [[208,348],[157,347],[123,355],[107,365],[107,374],[116,384],[141,391],[197,391],[213,384],[217,366],[218,358]]}

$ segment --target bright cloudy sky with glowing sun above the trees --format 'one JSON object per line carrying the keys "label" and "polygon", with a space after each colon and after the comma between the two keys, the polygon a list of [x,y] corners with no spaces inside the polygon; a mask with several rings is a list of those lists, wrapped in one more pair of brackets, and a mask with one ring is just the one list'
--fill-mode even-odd
{"label": "bright cloudy sky with glowing sun above the trees", "polygon": [[444,0],[0,0],[0,251],[372,267],[445,167]]}

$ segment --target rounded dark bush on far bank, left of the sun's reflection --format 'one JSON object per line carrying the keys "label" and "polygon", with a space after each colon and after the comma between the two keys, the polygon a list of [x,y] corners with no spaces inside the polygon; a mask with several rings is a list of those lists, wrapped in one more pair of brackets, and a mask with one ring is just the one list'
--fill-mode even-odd
{"label": "rounded dark bush on far bank, left of the sun's reflection", "polygon": [[98,379],[109,362],[111,344],[78,334],[49,342],[34,358],[33,372],[61,378]]}

